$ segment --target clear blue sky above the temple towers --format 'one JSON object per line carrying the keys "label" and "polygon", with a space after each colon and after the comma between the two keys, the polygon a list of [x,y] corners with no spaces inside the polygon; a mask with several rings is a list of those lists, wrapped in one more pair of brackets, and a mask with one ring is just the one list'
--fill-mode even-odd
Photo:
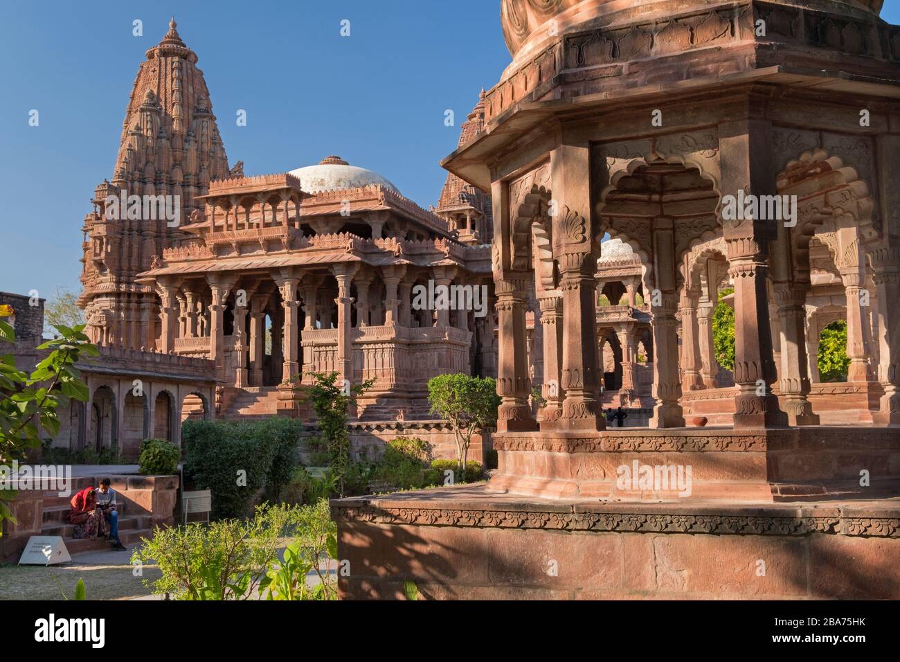
{"label": "clear blue sky above the temple towers", "polygon": [[[338,154],[423,206],[437,202],[438,160],[455,149],[459,123],[509,63],[499,0],[147,5],[4,0],[0,290],[80,290],[81,224],[94,186],[112,176],[131,85],[170,14],[199,57],[232,164],[263,174]],[[882,17],[900,23],[900,0]],[[28,125],[32,108],[39,127]],[[241,108],[246,127],[235,122]]]}

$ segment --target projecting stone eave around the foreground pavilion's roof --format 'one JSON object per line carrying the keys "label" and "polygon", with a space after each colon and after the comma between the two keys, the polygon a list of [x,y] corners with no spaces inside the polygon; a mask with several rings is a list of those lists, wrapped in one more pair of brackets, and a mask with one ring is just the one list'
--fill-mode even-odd
{"label": "projecting stone eave around the foreground pavilion's roof", "polygon": [[579,119],[583,115],[626,103],[640,104],[661,97],[672,103],[679,97],[696,95],[711,88],[716,88],[721,94],[725,89],[740,89],[742,86],[754,85],[791,86],[815,92],[900,100],[900,80],[896,78],[869,77],[845,71],[784,65],[743,70],[734,74],[689,78],[666,84],[617,87],[593,95],[543,101],[530,101],[525,98],[487,122],[484,130],[478,133],[473,141],[442,159],[441,166],[482,191],[490,192],[491,169],[487,165],[488,160],[507,149],[511,143],[523,139],[530,131],[554,118]]}

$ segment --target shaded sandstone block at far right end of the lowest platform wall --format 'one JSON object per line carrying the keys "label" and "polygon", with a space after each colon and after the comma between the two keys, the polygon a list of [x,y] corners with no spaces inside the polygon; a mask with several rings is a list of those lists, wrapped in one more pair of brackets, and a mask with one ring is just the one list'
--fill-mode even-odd
{"label": "shaded sandstone block at far right end of the lowest platform wall", "polygon": [[900,539],[814,535],[810,592],[816,598],[900,599]]}

